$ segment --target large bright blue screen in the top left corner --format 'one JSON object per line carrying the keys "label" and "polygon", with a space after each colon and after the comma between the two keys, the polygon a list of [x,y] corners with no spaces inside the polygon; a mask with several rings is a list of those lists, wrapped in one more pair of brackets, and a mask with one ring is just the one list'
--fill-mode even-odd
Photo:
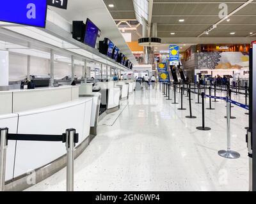
{"label": "large bright blue screen in the top left corner", "polygon": [[6,0],[0,4],[0,21],[45,27],[47,0]]}

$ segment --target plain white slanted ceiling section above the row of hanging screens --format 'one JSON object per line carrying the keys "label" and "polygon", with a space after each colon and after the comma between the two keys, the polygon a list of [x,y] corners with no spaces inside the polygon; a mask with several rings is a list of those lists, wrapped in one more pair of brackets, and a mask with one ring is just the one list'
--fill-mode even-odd
{"label": "plain white slanted ceiling section above the row of hanging screens", "polygon": [[123,54],[136,64],[134,55],[129,49],[127,43],[125,43],[124,37],[120,33],[115,21],[108,11],[108,8],[106,8],[106,5],[102,0],[68,1],[67,10],[61,10],[52,6],[49,7],[70,23],[72,23],[73,20],[86,21],[86,18],[90,18],[90,20],[92,20],[93,23],[102,31],[100,40],[104,37],[109,38]]}

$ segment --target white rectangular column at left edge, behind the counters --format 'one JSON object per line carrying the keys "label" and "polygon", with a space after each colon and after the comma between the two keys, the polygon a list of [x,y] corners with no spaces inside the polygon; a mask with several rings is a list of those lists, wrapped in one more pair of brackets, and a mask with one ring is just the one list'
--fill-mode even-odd
{"label": "white rectangular column at left edge, behind the counters", "polygon": [[0,50],[0,91],[9,89],[9,52]]}

